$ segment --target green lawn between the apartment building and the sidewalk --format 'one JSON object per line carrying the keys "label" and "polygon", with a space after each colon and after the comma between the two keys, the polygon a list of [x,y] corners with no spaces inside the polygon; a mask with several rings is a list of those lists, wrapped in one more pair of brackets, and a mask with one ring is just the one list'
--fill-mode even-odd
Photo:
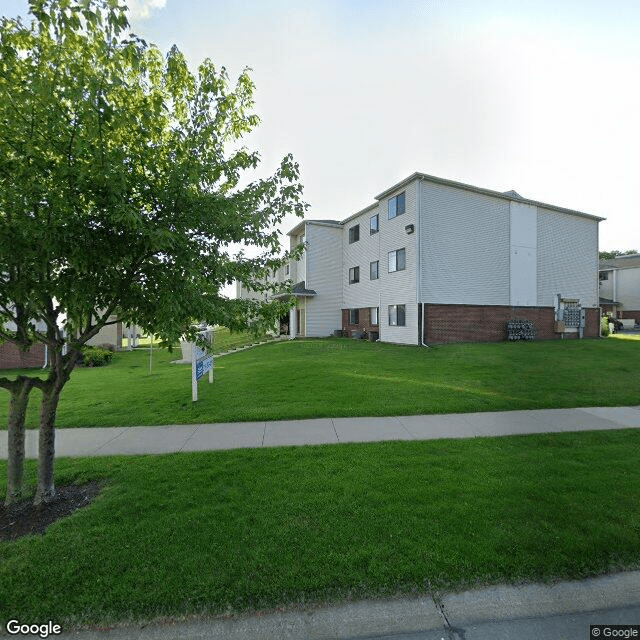
{"label": "green lawn between the apartment building and the sidewalk", "polygon": [[[618,334],[619,335],[619,334]],[[640,340],[456,344],[431,349],[349,339],[267,344],[216,360],[215,381],[171,364],[179,351],[117,353],[77,369],[59,427],[189,424],[640,404]],[[16,372],[5,372],[15,374]],[[5,395],[8,398],[8,395]],[[32,392],[29,427],[40,392]],[[7,402],[0,403],[6,428]]]}

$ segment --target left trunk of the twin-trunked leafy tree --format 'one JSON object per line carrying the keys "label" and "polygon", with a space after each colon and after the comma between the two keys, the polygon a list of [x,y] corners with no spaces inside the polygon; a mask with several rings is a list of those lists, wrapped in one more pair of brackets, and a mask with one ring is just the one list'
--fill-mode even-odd
{"label": "left trunk of the twin-trunked leafy tree", "polygon": [[29,378],[18,378],[11,389],[9,420],[7,425],[8,465],[6,505],[22,499],[24,483],[24,422],[29,404],[29,393],[33,382]]}

